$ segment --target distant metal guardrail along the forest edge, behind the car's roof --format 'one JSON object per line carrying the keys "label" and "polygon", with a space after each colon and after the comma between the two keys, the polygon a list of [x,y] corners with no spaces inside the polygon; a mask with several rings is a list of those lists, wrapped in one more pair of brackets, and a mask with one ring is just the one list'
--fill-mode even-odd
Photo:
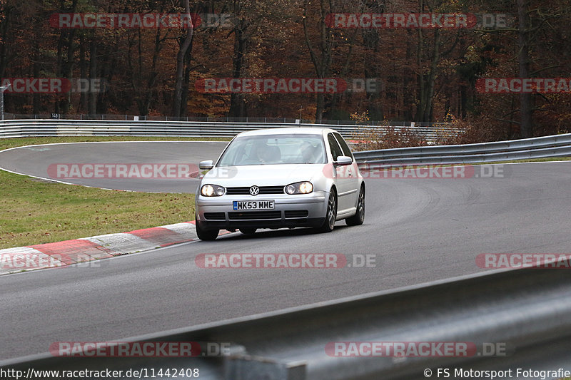
{"label": "distant metal guardrail along the forest edge, behind the car's roof", "polygon": [[[134,136],[177,136],[177,137],[222,137],[230,138],[246,130],[259,128],[280,128],[316,126],[338,130],[345,138],[363,138],[370,130],[383,130],[387,126],[331,125],[296,123],[226,123],[186,122],[157,120],[51,120],[25,119],[0,121],[0,138],[28,136],[71,136],[71,135],[134,135]],[[457,133],[446,124],[432,126],[396,126],[415,130],[427,140],[434,140],[443,133]]]}

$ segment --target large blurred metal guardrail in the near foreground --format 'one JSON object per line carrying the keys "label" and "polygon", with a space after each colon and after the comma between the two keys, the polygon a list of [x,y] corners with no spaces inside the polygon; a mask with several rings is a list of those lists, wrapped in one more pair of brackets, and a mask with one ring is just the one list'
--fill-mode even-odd
{"label": "large blurred metal guardrail in the near foreground", "polygon": [[[146,368],[149,374],[152,369],[198,368],[201,379],[216,380],[424,379],[425,369],[433,371],[426,377],[437,378],[438,368],[570,370],[570,292],[571,277],[565,270],[488,272],[121,341],[229,342],[226,356],[109,359],[41,354],[1,361],[0,367],[24,374],[29,368]],[[335,342],[468,342],[478,351],[460,357],[338,357],[326,349]],[[480,346],[505,350],[492,353]]]}

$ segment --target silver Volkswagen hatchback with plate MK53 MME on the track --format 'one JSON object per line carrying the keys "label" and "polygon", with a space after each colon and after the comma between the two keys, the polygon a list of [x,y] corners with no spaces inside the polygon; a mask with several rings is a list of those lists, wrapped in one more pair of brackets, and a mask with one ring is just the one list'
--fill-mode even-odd
{"label": "silver Volkswagen hatchback with plate MK53 MME on the track", "polygon": [[341,135],[325,128],[271,128],[237,135],[216,162],[202,161],[196,191],[196,232],[333,230],[336,220],[361,225],[365,182]]}

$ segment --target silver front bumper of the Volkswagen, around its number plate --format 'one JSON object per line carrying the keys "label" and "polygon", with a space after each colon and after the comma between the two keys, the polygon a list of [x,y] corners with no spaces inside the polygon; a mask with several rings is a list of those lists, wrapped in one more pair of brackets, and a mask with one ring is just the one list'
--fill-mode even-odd
{"label": "silver front bumper of the Volkswagen, around its number plate", "polygon": [[[203,230],[238,228],[320,227],[325,220],[328,193],[303,195],[223,195],[196,199],[196,222]],[[233,201],[273,200],[272,210],[233,209]]]}

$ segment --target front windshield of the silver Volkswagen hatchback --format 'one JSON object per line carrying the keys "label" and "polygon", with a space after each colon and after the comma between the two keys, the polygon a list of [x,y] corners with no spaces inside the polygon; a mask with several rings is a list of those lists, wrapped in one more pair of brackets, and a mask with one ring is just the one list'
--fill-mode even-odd
{"label": "front windshield of the silver Volkswagen hatchback", "polygon": [[260,135],[236,138],[217,166],[325,163],[321,135]]}

